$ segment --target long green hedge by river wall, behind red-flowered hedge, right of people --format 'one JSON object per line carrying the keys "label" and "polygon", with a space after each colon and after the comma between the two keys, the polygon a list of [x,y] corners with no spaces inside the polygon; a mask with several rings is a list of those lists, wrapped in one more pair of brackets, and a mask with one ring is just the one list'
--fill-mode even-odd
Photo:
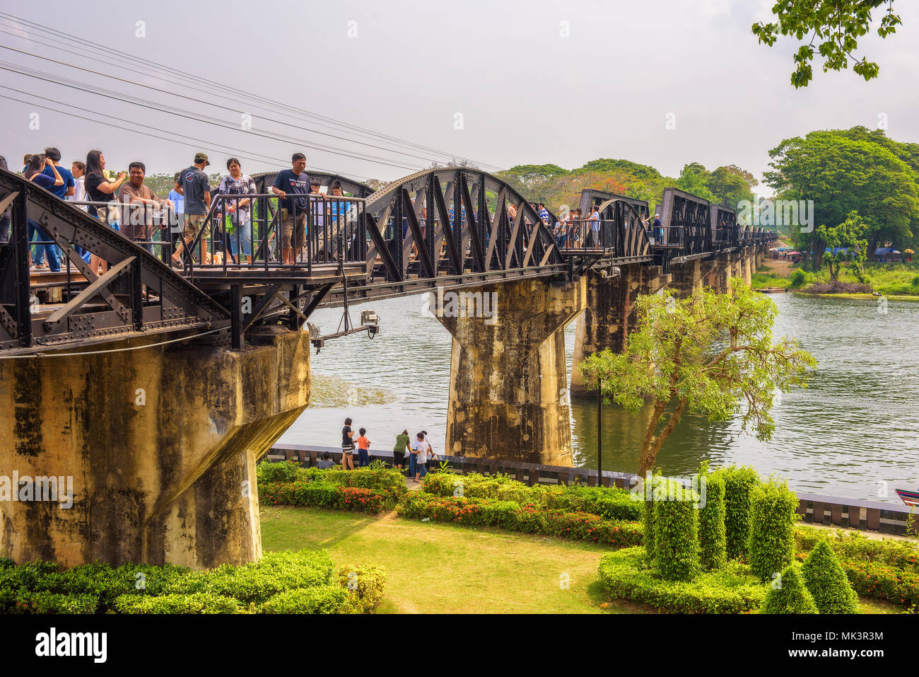
{"label": "long green hedge by river wall, behind red-flowered hedge, right of people", "polygon": [[422,490],[445,498],[512,500],[533,503],[546,509],[590,512],[607,520],[640,520],[641,500],[627,489],[581,487],[580,485],[535,485],[529,487],[507,475],[454,475],[428,473]]}

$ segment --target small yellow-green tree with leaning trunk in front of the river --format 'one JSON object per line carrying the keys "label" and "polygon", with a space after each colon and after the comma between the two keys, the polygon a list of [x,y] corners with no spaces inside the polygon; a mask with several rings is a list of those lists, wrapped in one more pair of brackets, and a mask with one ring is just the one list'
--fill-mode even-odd
{"label": "small yellow-green tree with leaning trunk in front of the river", "polygon": [[742,413],[743,430],[769,439],[776,389],[806,385],[806,370],[816,364],[797,341],[773,343],[776,305],[737,278],[729,293],[703,290],[677,300],[667,291],[642,295],[636,306],[641,319],[625,351],[596,352],[584,360],[581,373],[585,384],[599,383],[607,401],[612,397],[632,414],[651,400],[639,454],[641,477],[687,409],[711,421]]}

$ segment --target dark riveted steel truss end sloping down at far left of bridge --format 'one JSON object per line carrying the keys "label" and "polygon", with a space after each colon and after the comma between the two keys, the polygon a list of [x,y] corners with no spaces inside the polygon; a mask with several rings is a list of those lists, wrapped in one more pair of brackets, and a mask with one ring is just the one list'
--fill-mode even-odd
{"label": "dark riveted steel truss end sloping down at far left of bridge", "polygon": [[[5,202],[11,227],[9,243],[0,246],[0,350],[41,352],[229,326],[230,314],[220,304],[146,249],[26,178],[0,170],[0,205]],[[62,281],[31,280],[29,222],[61,248]],[[108,272],[97,276],[74,247],[107,261]]]}

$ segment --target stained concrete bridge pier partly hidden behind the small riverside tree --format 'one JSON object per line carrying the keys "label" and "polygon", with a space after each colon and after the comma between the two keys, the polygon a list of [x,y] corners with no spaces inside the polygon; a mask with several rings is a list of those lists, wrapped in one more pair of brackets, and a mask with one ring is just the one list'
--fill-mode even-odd
{"label": "stained concrete bridge pier partly hidden behind the small riverside tree", "polygon": [[659,266],[636,263],[618,268],[618,277],[604,278],[594,271],[587,275],[587,307],[577,318],[574,334],[572,395],[589,392],[578,370],[585,357],[605,348],[621,352],[625,347],[638,323],[635,301],[639,294],[659,293],[670,281]]}

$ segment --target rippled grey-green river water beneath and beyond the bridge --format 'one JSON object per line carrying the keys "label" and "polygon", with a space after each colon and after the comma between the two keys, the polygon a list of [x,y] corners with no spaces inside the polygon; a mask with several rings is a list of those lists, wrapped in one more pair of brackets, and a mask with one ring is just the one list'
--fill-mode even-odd
{"label": "rippled grey-green river water beneath and beyond the bridge", "polygon": [[[342,421],[366,427],[372,447],[391,449],[403,429],[427,430],[444,449],[450,336],[425,316],[424,295],[355,306],[380,315],[380,334],[336,338],[311,356],[312,373],[342,379],[335,407],[312,406],[279,442],[338,446]],[[894,488],[919,488],[919,304],[774,294],[775,336],[798,338],[819,361],[809,387],[777,397],[776,434],[768,442],[744,434],[739,420],[709,423],[685,415],[658,455],[669,476],[688,476],[699,463],[753,465],[762,476],[787,478],[791,488],[900,503]],[[886,312],[885,312],[886,311]],[[341,309],[312,316],[323,333]],[[565,331],[568,372],[573,322]],[[326,386],[327,387],[327,386]],[[364,402],[370,388],[383,389]],[[322,397],[321,397],[322,399]],[[351,404],[348,404],[351,403]],[[644,412],[647,414],[647,411]],[[634,472],[643,434],[638,417],[603,409],[603,467]],[[574,465],[596,467],[596,398],[573,398]]]}

